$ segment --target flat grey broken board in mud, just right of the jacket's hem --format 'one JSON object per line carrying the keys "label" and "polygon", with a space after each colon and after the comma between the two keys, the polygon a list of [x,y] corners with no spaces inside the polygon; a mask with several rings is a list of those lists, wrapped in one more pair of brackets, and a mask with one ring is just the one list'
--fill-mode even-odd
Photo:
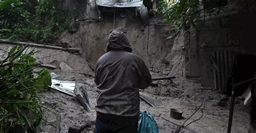
{"label": "flat grey broken board in mud, just right of the jacket's hem", "polygon": [[163,108],[163,103],[161,100],[154,99],[152,97],[146,96],[142,92],[139,93],[139,97],[143,99],[145,102],[149,103],[154,108]]}

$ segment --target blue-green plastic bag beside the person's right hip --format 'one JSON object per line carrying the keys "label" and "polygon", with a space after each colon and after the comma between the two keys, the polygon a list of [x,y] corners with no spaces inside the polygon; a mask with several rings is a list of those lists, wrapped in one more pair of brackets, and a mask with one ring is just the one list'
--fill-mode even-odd
{"label": "blue-green plastic bag beside the person's right hip", "polygon": [[138,133],[160,133],[157,122],[149,111],[140,113]]}

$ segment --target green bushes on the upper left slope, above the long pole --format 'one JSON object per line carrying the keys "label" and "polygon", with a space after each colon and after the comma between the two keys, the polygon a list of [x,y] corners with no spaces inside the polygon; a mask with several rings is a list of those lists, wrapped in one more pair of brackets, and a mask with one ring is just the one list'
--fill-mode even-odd
{"label": "green bushes on the upper left slope, above the long pole", "polygon": [[0,2],[0,38],[51,43],[64,30],[77,31],[75,17],[77,13],[57,9],[57,0],[40,0],[36,4],[35,1],[3,0]]}

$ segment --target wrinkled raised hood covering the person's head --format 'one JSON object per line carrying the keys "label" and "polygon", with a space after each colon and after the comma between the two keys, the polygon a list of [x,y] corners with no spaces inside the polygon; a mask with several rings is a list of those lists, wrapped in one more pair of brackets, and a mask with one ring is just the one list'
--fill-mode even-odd
{"label": "wrinkled raised hood covering the person's head", "polygon": [[107,52],[112,50],[123,50],[127,52],[132,52],[132,47],[129,40],[125,37],[122,31],[112,31],[109,35],[109,40],[107,43]]}

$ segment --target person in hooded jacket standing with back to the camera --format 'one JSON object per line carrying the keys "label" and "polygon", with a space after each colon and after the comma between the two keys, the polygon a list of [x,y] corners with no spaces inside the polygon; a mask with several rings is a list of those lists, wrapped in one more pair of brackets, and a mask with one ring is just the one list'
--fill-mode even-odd
{"label": "person in hooded jacket standing with back to the camera", "polygon": [[144,61],[132,54],[122,31],[109,35],[107,53],[96,63],[96,133],[138,132],[139,89],[151,84]]}

